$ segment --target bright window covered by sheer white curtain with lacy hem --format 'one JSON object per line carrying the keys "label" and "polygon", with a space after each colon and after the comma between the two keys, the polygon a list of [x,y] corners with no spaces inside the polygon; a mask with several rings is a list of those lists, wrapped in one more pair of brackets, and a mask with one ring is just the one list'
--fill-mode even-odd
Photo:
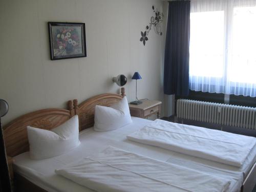
{"label": "bright window covered by sheer white curtain with lacy hem", "polygon": [[256,1],[192,0],[190,89],[256,97],[255,74]]}

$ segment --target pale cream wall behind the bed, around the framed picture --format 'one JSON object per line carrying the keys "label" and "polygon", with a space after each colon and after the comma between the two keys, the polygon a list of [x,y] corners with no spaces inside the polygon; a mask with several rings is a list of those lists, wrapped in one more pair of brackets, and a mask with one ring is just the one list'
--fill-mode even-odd
{"label": "pale cream wall behind the bed, around the framed picture", "polygon": [[[150,22],[158,0],[1,0],[0,98],[9,102],[10,120],[44,108],[64,108],[119,87],[112,77],[124,74],[129,101],[163,100],[164,36],[152,30],[146,46],[140,31]],[[165,15],[166,16],[166,15]],[[86,23],[87,57],[50,60],[47,22]],[[164,27],[164,25],[163,25]]]}

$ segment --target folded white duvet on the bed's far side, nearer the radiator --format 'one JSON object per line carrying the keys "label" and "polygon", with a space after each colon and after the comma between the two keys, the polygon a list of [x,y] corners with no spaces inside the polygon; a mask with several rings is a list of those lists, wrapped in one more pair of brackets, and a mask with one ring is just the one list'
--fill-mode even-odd
{"label": "folded white duvet on the bed's far side, nearer the radiator", "polygon": [[256,138],[160,119],[127,136],[144,144],[240,167]]}

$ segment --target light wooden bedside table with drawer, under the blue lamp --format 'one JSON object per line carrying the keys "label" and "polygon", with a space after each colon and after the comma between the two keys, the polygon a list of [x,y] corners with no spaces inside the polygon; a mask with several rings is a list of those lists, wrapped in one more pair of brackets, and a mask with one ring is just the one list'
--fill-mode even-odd
{"label": "light wooden bedside table with drawer, under the blue lamp", "polygon": [[157,118],[160,118],[160,105],[161,101],[144,100],[141,104],[130,104],[131,116],[146,118],[153,114],[157,114]]}

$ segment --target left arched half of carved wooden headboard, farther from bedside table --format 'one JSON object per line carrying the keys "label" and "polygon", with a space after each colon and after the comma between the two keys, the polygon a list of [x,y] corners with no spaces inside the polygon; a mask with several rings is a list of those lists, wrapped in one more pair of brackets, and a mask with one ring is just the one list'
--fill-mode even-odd
{"label": "left arched half of carved wooden headboard, farther from bedside table", "polygon": [[28,113],[4,127],[6,153],[10,157],[29,151],[27,126],[52,130],[75,115],[72,101],[68,109],[44,109]]}

